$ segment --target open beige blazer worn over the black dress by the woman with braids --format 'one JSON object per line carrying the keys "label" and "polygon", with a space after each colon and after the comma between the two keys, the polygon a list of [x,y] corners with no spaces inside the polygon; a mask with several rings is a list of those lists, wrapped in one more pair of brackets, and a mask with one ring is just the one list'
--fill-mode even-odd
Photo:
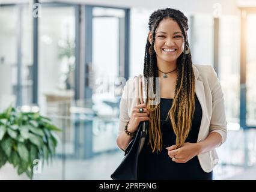
{"label": "open beige blazer worn over the black dress by the woman with braids", "polygon": [[[222,143],[224,143],[227,139],[227,121],[225,117],[224,95],[219,79],[215,70],[210,65],[193,65],[193,70],[195,74],[195,93],[203,111],[197,142],[206,139],[209,133],[216,132],[221,135]],[[137,104],[136,95],[138,94],[135,93],[135,79],[136,77],[127,80],[123,89],[120,101],[119,134],[124,131],[124,127],[132,115],[132,109]],[[199,154],[198,160],[205,172],[211,172],[218,163],[218,155],[216,150],[213,149],[204,154]]]}

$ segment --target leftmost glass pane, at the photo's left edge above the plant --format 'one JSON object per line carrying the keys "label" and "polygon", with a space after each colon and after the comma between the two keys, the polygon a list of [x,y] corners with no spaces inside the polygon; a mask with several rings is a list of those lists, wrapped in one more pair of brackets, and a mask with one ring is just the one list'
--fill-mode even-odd
{"label": "leftmost glass pane, at the photo's left edge above the plant", "polygon": [[16,104],[17,7],[0,7],[0,109]]}

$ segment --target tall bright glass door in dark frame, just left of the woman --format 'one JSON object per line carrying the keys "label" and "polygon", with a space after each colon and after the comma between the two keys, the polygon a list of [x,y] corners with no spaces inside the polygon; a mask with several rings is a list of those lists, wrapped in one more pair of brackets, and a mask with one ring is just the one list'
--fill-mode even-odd
{"label": "tall bright glass door in dark frame, just left of the woman", "polygon": [[93,7],[92,100],[98,118],[93,126],[93,151],[115,149],[115,137],[120,98],[115,83],[124,63],[125,11]]}

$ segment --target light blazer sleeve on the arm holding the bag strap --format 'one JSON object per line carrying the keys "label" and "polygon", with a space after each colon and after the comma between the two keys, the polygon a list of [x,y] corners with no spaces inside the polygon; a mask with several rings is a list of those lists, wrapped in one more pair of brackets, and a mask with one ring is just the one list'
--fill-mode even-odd
{"label": "light blazer sleeve on the arm holding the bag strap", "polygon": [[124,85],[123,94],[120,100],[119,106],[119,128],[118,128],[118,135],[124,131],[126,123],[129,121],[130,117],[128,115],[128,84],[129,80],[127,80],[126,85]]}

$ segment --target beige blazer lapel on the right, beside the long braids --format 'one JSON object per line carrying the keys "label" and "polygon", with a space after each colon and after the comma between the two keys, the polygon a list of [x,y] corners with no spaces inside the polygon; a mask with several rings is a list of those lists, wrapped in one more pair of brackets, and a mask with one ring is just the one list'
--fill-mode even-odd
{"label": "beige blazer lapel on the right, beside the long braids", "polygon": [[194,75],[195,75],[195,94],[197,94],[198,101],[201,105],[202,108],[202,119],[201,119],[201,125],[200,125],[200,130],[198,133],[198,139],[197,142],[201,141],[201,136],[203,135],[203,131],[207,130],[207,122],[208,122],[208,114],[207,114],[207,109],[206,109],[206,95],[204,92],[204,83],[200,80],[200,74],[197,69],[193,65],[193,70],[194,70]]}

